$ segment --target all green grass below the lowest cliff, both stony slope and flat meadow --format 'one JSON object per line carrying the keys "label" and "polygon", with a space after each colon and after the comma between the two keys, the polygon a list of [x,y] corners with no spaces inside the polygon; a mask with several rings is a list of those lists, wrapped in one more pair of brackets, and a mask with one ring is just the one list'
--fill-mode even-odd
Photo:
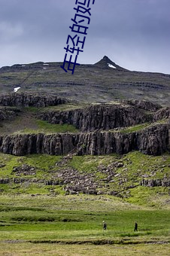
{"label": "all green grass below the lowest cliff, both stony slope and flat meadow", "polygon": [[[170,157],[134,151],[119,156],[62,156],[0,154],[0,255],[168,255],[170,208],[168,187],[143,187],[146,178],[169,175]],[[101,168],[114,162],[114,183],[105,186]],[[35,173],[13,172],[29,165]],[[94,173],[105,194],[65,194],[64,185],[47,185],[60,169]],[[153,175],[154,172],[154,175]],[[25,178],[14,183],[14,178]],[[120,184],[126,179],[126,183]],[[132,184],[135,184],[132,187]],[[130,187],[130,188],[129,188]],[[115,190],[121,197],[107,194]],[[102,221],[108,224],[102,229]],[[138,232],[134,232],[135,221]]]}

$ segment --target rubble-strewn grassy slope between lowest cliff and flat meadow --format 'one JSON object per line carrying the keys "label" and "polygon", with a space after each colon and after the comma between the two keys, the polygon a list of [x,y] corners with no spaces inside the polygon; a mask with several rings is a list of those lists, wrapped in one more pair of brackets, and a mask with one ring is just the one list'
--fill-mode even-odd
{"label": "rubble-strewn grassy slope between lowest cliff and flat meadow", "polygon": [[[108,166],[113,166],[115,163],[120,163],[120,167],[113,169],[113,179],[108,181]],[[0,166],[0,178],[11,179],[8,184],[1,184],[2,194],[65,194],[65,183],[62,178],[66,179],[64,173],[65,169],[68,169],[70,181],[68,180],[67,184],[69,186],[72,184],[74,187],[74,183],[83,181],[82,177],[87,176],[89,181],[98,185],[99,194],[113,194],[114,191],[117,197],[129,203],[169,208],[168,187],[141,186],[143,179],[157,180],[165,177],[169,179],[169,154],[153,157],[134,151],[122,157],[113,154],[73,156],[66,159],[61,156],[37,154],[25,157],[0,154]],[[14,171],[16,166],[19,169]],[[29,166],[27,172],[24,171],[24,166]],[[19,181],[25,178],[25,181],[15,184],[14,178],[18,178]],[[56,181],[56,185],[47,184],[47,181]]]}

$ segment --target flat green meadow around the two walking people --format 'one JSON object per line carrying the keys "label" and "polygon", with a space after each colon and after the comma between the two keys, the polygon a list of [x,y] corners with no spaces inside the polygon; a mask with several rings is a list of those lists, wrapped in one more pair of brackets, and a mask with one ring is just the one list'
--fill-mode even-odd
{"label": "flat green meadow around the two walking people", "polygon": [[0,255],[168,255],[170,249],[169,210],[108,196],[2,194],[0,201]]}

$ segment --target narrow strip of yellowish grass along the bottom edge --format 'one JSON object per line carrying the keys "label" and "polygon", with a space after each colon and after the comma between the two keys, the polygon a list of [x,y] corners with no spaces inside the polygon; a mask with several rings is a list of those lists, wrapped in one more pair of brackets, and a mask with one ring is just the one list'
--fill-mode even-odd
{"label": "narrow strip of yellowish grass along the bottom edge", "polygon": [[29,256],[132,256],[156,255],[168,256],[169,245],[61,245],[61,244],[31,244],[31,243],[2,243],[0,255]]}

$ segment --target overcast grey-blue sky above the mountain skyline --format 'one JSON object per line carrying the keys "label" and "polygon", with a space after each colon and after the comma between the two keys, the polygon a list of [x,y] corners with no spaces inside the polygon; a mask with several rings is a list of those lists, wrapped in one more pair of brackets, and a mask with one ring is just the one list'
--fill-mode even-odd
{"label": "overcast grey-blue sky above the mountain skyline", "polygon": [[[79,0],[83,2],[83,0]],[[0,67],[63,61],[75,0],[0,0]],[[170,74],[169,0],[96,0],[77,62]]]}

